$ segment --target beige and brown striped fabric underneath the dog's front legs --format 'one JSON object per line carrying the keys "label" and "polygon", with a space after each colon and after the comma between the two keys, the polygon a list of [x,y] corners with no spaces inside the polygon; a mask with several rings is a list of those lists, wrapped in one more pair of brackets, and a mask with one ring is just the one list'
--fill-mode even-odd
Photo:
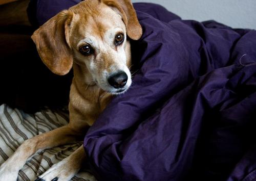
{"label": "beige and brown striped fabric underneath the dog's front legs", "polygon": [[[35,114],[26,114],[7,105],[0,106],[0,164],[25,140],[68,123],[68,111],[49,109]],[[34,156],[19,171],[18,180],[35,180],[53,164],[68,157],[82,143],[74,143],[47,149]],[[84,166],[72,180],[96,180]]]}

